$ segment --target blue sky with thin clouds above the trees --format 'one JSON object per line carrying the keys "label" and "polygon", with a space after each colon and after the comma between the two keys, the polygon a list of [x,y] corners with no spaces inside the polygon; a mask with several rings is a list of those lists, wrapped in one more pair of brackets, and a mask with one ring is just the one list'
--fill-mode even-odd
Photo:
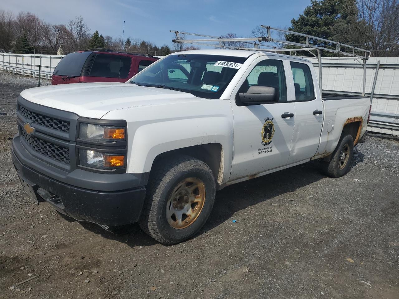
{"label": "blue sky with thin clouds above the trees", "polygon": [[114,37],[122,36],[125,21],[125,38],[171,46],[169,30],[216,36],[232,31],[246,37],[261,24],[289,26],[309,4],[310,0],[18,0],[2,2],[0,9],[30,11],[57,24],[82,16],[91,31]]}

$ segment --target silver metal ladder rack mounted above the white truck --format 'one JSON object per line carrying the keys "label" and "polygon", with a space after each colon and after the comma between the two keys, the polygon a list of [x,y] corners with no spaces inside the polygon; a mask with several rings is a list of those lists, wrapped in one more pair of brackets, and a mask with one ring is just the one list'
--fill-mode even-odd
{"label": "silver metal ladder rack mounted above the white truck", "polygon": [[[208,47],[216,47],[216,48],[223,48],[223,49],[238,49],[238,50],[251,50],[251,51],[264,51],[264,52],[289,52],[292,55],[296,55],[296,52],[299,51],[307,51],[311,53],[314,57],[318,60],[318,67],[319,67],[319,88],[320,93],[322,93],[322,52],[327,51],[330,53],[336,53],[338,55],[343,55],[346,57],[325,57],[326,59],[356,59],[360,64],[363,65],[363,96],[365,95],[365,87],[366,87],[366,62],[367,59],[370,58],[371,52],[365,49],[361,49],[358,47],[354,47],[351,45],[346,45],[344,43],[339,43],[337,41],[332,41],[329,39],[324,39],[321,37],[316,37],[313,35],[308,35],[304,33],[298,33],[295,31],[285,30],[274,28],[271,26],[261,25],[262,28],[265,28],[267,31],[267,36],[260,36],[260,37],[235,37],[235,38],[224,38],[218,37],[213,35],[205,35],[199,33],[190,33],[190,32],[183,32],[183,31],[174,31],[170,30],[170,32],[175,33],[176,39],[172,39],[174,43],[191,43],[194,45],[204,45]],[[292,34],[300,37],[305,38],[305,43],[296,43],[293,41],[286,41],[281,39],[275,39],[271,36],[271,30],[277,31],[284,34]],[[185,39],[186,35],[193,35],[201,37],[199,39]],[[324,47],[319,45],[314,45],[316,41],[321,41]],[[229,42],[239,42],[241,44],[251,45],[248,47],[239,47],[229,45]],[[294,49],[287,49],[281,47],[275,47],[272,45],[268,45],[262,42],[275,42],[275,43],[282,43],[284,45],[291,45],[296,46],[297,48]],[[269,47],[265,48],[265,47]],[[313,52],[316,52],[317,55]],[[363,63],[359,61],[359,59],[363,60]]]}

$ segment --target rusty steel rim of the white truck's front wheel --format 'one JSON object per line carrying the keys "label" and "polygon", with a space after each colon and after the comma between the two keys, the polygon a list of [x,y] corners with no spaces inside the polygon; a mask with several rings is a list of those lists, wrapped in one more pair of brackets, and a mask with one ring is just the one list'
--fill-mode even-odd
{"label": "rusty steel rim of the white truck's front wheel", "polygon": [[195,177],[188,177],[173,189],[166,204],[166,219],[170,226],[182,229],[192,224],[205,203],[205,185]]}

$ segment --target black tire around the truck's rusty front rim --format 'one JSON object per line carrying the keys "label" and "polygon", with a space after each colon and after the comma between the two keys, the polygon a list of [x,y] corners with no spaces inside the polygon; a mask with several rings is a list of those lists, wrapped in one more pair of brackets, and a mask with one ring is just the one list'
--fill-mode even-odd
{"label": "black tire around the truck's rusty front rim", "polygon": [[[167,218],[166,205],[169,202],[168,209],[170,210],[172,203],[178,203],[178,201],[174,201],[176,196],[178,196],[175,194],[178,193],[178,190],[182,191],[184,188],[189,188],[190,185],[189,187],[180,185],[183,186],[181,189],[176,189],[176,186],[179,186],[182,181],[188,178],[195,178],[203,183],[200,183],[202,186],[201,190],[204,191],[203,202],[201,202],[200,210],[196,212],[198,214],[195,219],[194,217],[189,219],[191,223],[188,224],[187,227],[175,228],[168,222],[173,221],[171,218],[173,218],[174,214],[172,214],[172,217],[169,215]],[[198,189],[196,189],[195,192],[198,193]],[[201,229],[203,224],[205,224],[211,213],[213,202],[215,201],[215,192],[215,178],[212,170],[206,163],[186,155],[167,158],[157,163],[150,174],[146,201],[139,220],[139,225],[144,232],[162,244],[170,245],[182,242],[194,236]],[[194,194],[194,191],[192,194]],[[199,196],[200,195],[197,195],[197,197]],[[174,199],[172,199],[172,197]],[[190,203],[188,205],[190,205]],[[183,216],[184,215],[185,214],[183,214]],[[183,216],[180,217],[180,220],[183,219]],[[174,217],[176,218],[176,215]],[[183,222],[180,221],[180,223]],[[178,225],[177,222],[176,225]]]}

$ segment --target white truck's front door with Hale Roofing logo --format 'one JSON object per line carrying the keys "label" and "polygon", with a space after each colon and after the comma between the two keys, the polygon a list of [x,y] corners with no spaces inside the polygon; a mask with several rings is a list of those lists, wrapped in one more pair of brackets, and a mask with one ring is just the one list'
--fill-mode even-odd
{"label": "white truck's front door with Hale Roofing logo", "polygon": [[[287,165],[294,134],[295,114],[291,89],[287,88],[284,58],[272,55],[256,59],[233,90],[234,150],[230,181]],[[288,83],[289,84],[289,83]],[[240,106],[237,93],[260,85],[278,89],[276,102]],[[290,99],[290,100],[288,100]]]}

